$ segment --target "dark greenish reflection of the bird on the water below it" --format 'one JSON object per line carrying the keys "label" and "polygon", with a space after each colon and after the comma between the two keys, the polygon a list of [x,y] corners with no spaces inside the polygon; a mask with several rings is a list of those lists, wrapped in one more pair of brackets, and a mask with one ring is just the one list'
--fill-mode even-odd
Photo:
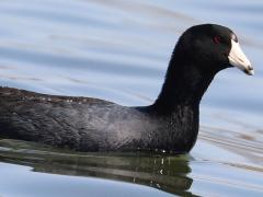
{"label": "dark greenish reflection of the bird on the water below it", "polygon": [[191,195],[188,189],[193,183],[188,176],[188,154],[79,153],[32,142],[0,140],[0,162],[30,165],[34,172],[136,183],[176,195]]}

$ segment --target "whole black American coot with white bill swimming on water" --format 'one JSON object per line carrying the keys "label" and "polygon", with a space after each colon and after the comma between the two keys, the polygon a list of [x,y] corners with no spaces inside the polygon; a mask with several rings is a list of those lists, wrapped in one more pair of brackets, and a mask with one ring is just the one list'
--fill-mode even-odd
{"label": "whole black American coot with white bill swimming on water", "polygon": [[152,105],[0,88],[0,137],[79,151],[188,152],[198,134],[201,99],[215,74],[229,67],[253,74],[235,33],[216,24],[192,26],[173,50]]}

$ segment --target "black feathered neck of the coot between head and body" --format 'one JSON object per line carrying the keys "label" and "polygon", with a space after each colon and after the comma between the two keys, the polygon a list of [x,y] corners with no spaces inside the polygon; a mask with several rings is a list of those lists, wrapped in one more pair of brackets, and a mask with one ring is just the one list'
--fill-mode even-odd
{"label": "black feathered neck of the coot between head and body", "polygon": [[201,71],[196,62],[174,50],[161,93],[151,107],[165,113],[182,106],[198,106],[216,72]]}

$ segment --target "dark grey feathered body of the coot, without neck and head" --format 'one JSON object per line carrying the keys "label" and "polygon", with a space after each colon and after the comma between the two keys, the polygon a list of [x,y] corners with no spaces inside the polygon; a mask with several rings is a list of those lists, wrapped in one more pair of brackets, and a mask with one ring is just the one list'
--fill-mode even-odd
{"label": "dark grey feathered body of the coot, without neck and head", "polygon": [[1,137],[80,151],[174,152],[188,151],[197,137],[196,107],[178,106],[159,115],[148,107],[9,88],[0,88],[0,97]]}

